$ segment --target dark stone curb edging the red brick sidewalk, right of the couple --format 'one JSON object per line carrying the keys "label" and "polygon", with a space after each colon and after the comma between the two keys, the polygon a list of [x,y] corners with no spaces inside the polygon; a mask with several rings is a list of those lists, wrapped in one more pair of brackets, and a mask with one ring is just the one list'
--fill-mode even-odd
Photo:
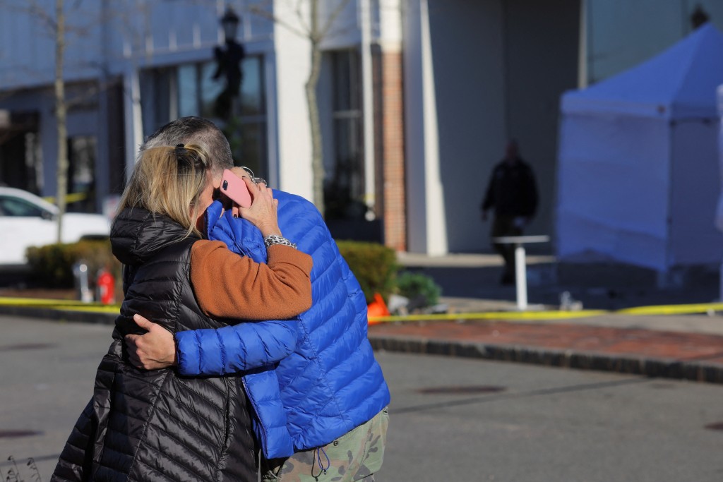
{"label": "dark stone curb edging the red brick sidewalk, right of the couple", "polygon": [[450,340],[379,335],[369,335],[369,342],[372,343],[372,348],[375,350],[387,350],[396,353],[481,358],[483,360],[512,361],[570,369],[613,371],[622,374],[723,384],[723,365],[705,363],[704,361],[681,361],[520,345],[463,343]]}

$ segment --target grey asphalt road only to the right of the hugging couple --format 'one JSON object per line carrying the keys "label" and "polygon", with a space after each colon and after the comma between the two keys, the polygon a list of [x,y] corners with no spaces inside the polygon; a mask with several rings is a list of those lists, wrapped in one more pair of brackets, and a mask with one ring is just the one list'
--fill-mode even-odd
{"label": "grey asphalt road only to the right of the hugging couple", "polygon": [[705,428],[723,422],[720,385],[437,356],[378,359],[393,390],[380,481],[723,480],[723,431]]}

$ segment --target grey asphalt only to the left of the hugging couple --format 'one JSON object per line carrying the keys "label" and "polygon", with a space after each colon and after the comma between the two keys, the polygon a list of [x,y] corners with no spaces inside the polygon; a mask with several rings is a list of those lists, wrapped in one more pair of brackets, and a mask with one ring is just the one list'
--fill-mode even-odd
{"label": "grey asphalt only to the left of the hugging couple", "polygon": [[33,481],[32,457],[40,480],[53,472],[63,444],[93,395],[95,370],[108,350],[108,325],[48,322],[0,316],[0,473],[13,467]]}

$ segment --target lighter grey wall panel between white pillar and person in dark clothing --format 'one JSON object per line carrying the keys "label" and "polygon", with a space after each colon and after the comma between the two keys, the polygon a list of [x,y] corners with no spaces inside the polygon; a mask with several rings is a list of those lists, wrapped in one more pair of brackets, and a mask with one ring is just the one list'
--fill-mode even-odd
{"label": "lighter grey wall panel between white pillar and person in dark clothing", "polygon": [[[448,249],[480,251],[479,203],[505,139],[503,8],[498,0],[431,0],[429,20]],[[409,142],[414,142],[409,139]]]}

